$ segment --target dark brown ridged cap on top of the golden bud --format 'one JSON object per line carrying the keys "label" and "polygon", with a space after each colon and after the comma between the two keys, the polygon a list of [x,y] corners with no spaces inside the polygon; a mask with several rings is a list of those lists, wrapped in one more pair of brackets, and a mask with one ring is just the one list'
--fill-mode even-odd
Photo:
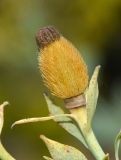
{"label": "dark brown ridged cap on top of the golden bud", "polygon": [[59,38],[59,32],[52,26],[41,28],[36,34],[36,42],[39,48],[44,48]]}

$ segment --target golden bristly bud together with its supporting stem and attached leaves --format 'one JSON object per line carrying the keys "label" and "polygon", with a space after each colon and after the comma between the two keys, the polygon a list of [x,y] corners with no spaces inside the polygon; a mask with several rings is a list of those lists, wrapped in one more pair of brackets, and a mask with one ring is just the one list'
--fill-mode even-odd
{"label": "golden bristly bud together with its supporting stem and attached leaves", "polygon": [[[64,100],[65,107],[69,109],[70,113],[65,114],[46,97],[52,116],[22,119],[13,123],[12,127],[16,124],[50,119],[59,123],[66,122],[63,128],[75,137],[78,137],[77,135],[81,136],[79,139],[97,160],[109,160],[109,155],[105,155],[91,125],[98,98],[97,76],[100,67],[95,68],[88,87],[88,71],[83,58],[79,51],[55,28],[45,27],[40,29],[36,35],[36,41],[39,47],[39,66],[45,85],[52,94]],[[86,95],[86,99],[84,95]],[[62,119],[58,120],[59,117]],[[72,121],[71,119],[65,121],[65,117],[71,118]],[[73,120],[78,126],[73,123]],[[73,125],[70,125],[70,123]],[[79,131],[76,131],[75,127],[78,127]]]}

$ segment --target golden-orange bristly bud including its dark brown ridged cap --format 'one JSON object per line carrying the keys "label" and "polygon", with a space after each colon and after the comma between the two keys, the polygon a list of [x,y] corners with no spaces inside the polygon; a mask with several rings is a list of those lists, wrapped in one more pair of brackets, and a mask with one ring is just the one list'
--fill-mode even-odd
{"label": "golden-orange bristly bud including its dark brown ridged cap", "polygon": [[36,40],[42,77],[52,94],[62,99],[82,94],[88,72],[79,51],[53,27],[40,29]]}

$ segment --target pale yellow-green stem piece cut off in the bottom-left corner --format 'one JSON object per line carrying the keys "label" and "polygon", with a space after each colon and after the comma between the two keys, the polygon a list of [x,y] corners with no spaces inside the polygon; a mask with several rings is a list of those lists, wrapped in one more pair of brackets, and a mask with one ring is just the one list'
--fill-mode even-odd
{"label": "pale yellow-green stem piece cut off in the bottom-left corner", "polygon": [[0,160],[15,160],[3,147],[0,142]]}

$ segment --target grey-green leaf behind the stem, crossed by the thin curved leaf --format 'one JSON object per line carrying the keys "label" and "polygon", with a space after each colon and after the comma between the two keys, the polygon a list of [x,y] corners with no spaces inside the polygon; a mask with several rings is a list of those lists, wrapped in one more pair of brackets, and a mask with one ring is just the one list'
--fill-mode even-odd
{"label": "grey-green leaf behind the stem, crossed by the thin curved leaf", "polygon": [[[55,104],[52,103],[52,101],[46,96],[46,102],[48,105],[48,109],[49,112],[51,113],[51,115],[59,115],[59,114],[64,114],[64,111],[56,106]],[[76,137],[79,141],[81,141],[86,148],[88,148],[82,134],[81,131],[79,130],[79,128],[73,123],[72,119],[69,117],[57,117],[54,118],[54,120],[56,122],[59,123],[59,125],[61,125],[67,132],[69,132],[71,135],[73,135],[74,137]]]}

